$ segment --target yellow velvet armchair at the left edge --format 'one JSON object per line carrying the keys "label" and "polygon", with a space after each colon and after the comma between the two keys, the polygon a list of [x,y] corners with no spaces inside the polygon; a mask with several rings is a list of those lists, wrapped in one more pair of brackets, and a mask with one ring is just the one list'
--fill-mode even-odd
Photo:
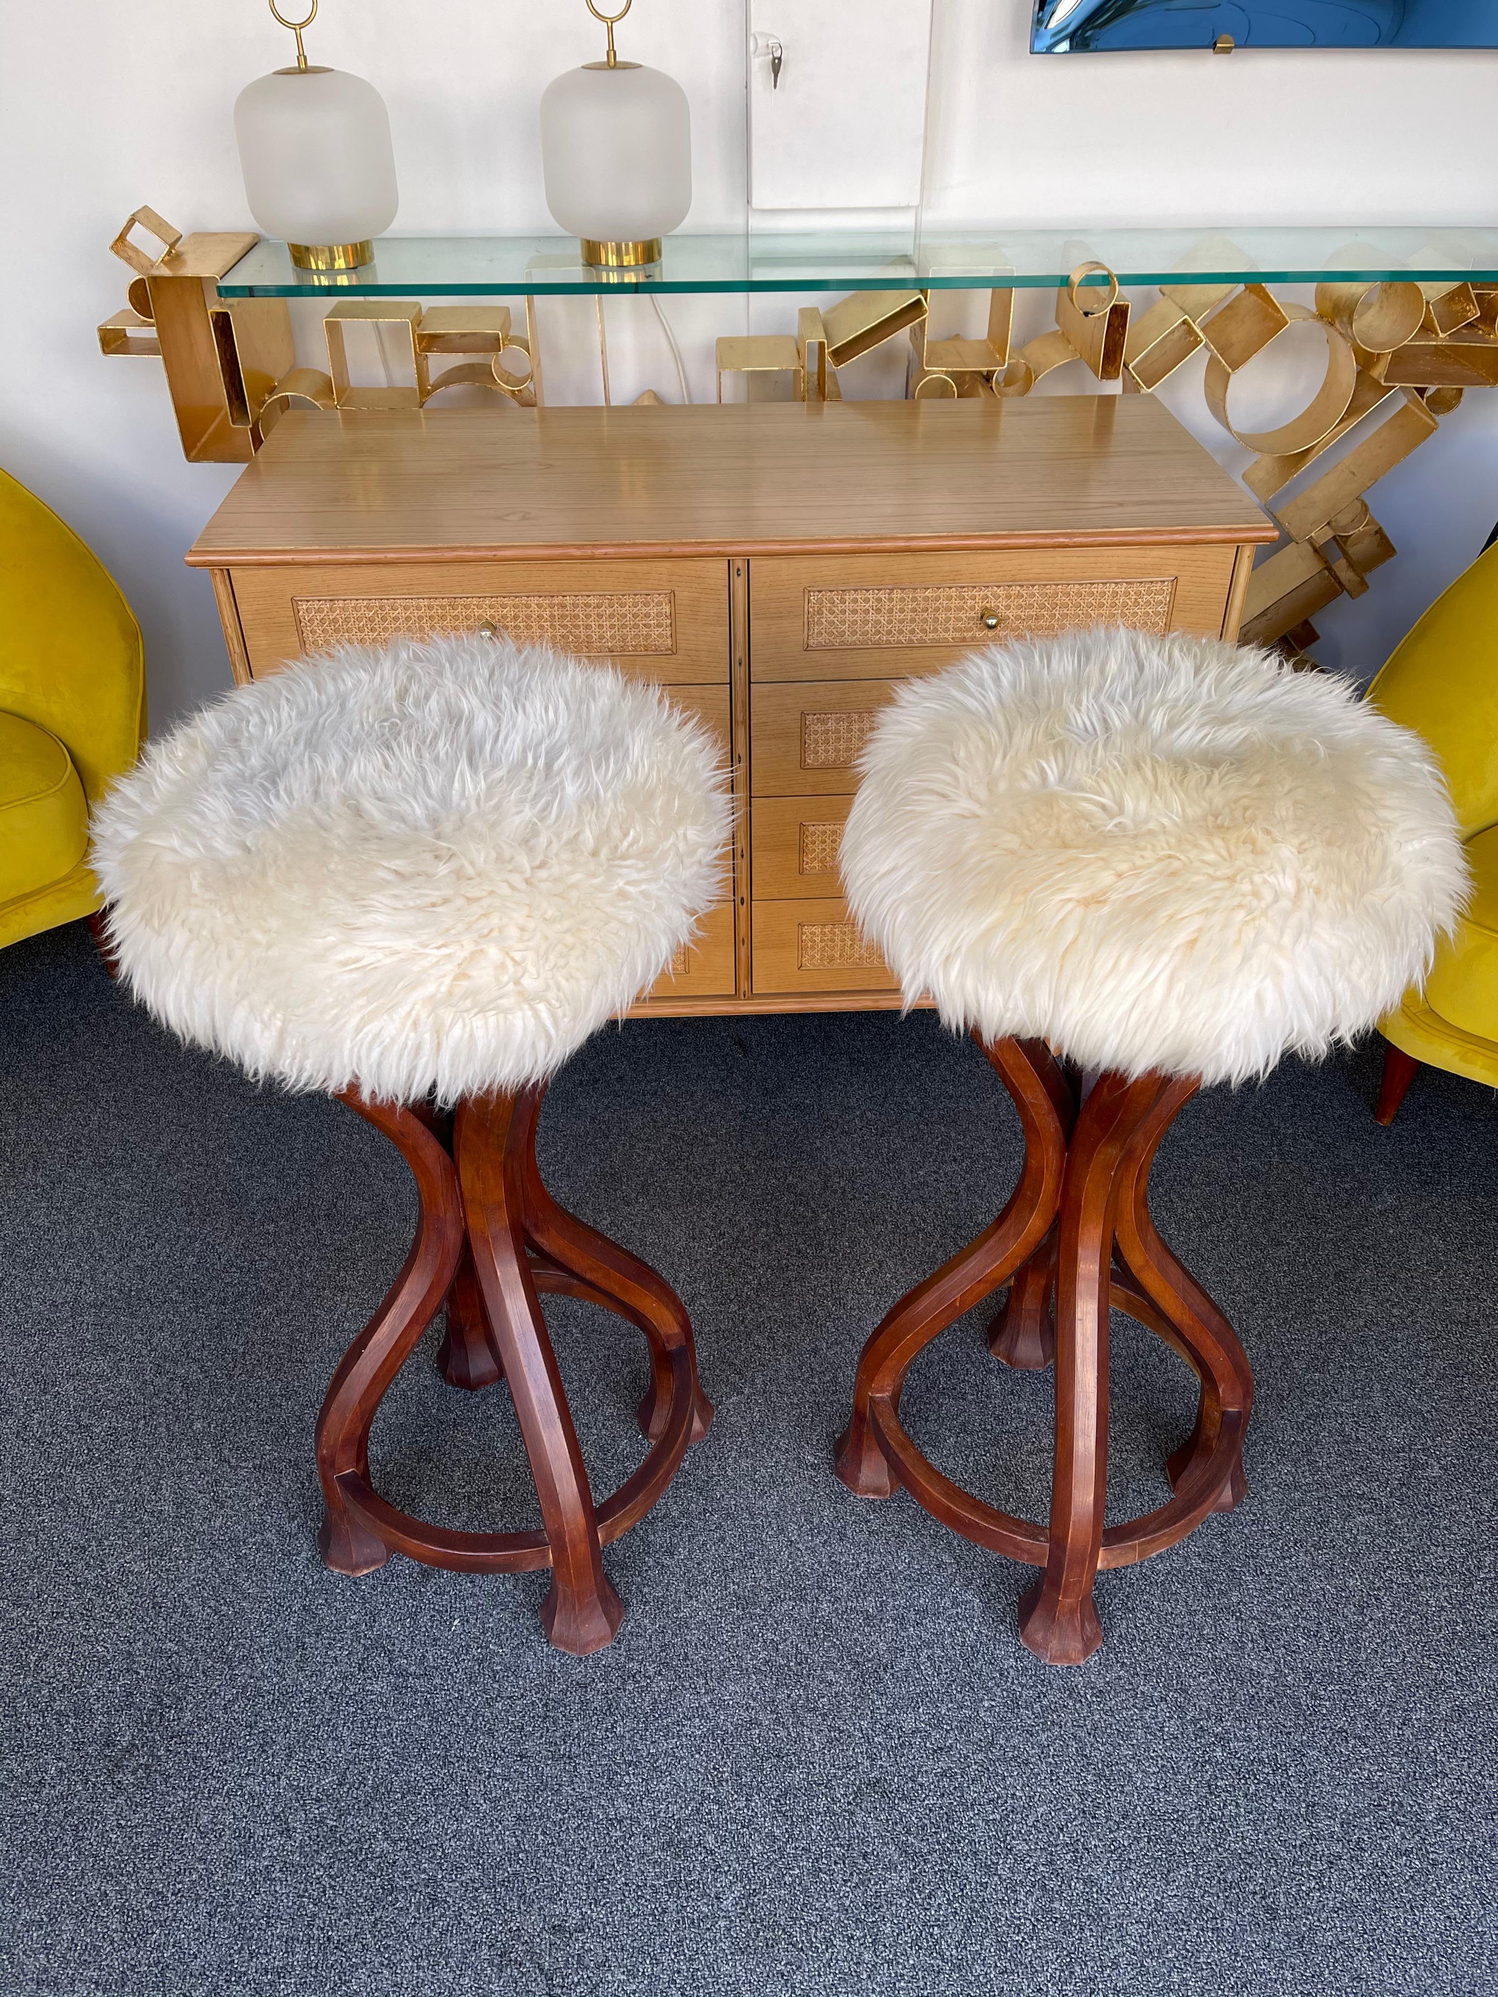
{"label": "yellow velvet armchair at the left edge", "polygon": [[0,949],[98,909],[88,813],[144,727],[130,605],[72,527],[0,471]]}

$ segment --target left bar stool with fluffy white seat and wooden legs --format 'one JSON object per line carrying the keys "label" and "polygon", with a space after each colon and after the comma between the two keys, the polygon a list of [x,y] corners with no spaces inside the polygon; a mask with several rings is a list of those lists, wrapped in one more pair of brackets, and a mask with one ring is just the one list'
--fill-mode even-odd
{"label": "left bar stool with fluffy white seat and wooden legs", "polygon": [[[318,1418],[322,1554],[368,1574],[551,1568],[559,1650],[609,1644],[599,1548],[707,1434],[691,1322],[641,1260],[541,1184],[549,1076],[671,963],[721,895],[729,803],[707,731],[655,687],[507,639],[344,649],[154,743],[96,819],[108,935],[138,998],[254,1078],[326,1090],[399,1148],[421,1212]],[[593,1502],[537,1292],[649,1344],[649,1454]],[[449,1532],[370,1480],[370,1428],[445,1308],[441,1364],[501,1376],[541,1532]]]}

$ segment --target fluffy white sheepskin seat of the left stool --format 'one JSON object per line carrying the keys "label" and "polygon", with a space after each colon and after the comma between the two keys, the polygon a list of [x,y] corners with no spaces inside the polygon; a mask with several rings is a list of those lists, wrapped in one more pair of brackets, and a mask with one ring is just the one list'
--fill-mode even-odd
{"label": "fluffy white sheepskin seat of the left stool", "polygon": [[348,647],[152,743],[94,821],[124,979],[290,1088],[541,1080],[723,891],[709,731],[505,639]]}

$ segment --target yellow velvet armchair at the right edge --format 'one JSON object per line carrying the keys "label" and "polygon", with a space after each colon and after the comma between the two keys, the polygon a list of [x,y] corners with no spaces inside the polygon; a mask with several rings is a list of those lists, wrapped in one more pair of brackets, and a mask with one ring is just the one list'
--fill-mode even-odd
{"label": "yellow velvet armchair at the right edge", "polygon": [[1422,1062],[1498,1088],[1498,547],[1430,605],[1368,699],[1440,757],[1472,865],[1472,905],[1424,995],[1378,1022],[1386,1124]]}

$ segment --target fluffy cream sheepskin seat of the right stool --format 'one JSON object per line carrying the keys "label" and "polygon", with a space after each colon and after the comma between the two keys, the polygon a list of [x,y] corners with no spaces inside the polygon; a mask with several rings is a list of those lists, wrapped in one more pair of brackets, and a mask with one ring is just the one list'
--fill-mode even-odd
{"label": "fluffy cream sheepskin seat of the right stool", "polygon": [[1420,983],[1466,865],[1430,751],[1350,683],[1075,631],[899,691],[843,881],[949,1026],[1242,1080]]}

